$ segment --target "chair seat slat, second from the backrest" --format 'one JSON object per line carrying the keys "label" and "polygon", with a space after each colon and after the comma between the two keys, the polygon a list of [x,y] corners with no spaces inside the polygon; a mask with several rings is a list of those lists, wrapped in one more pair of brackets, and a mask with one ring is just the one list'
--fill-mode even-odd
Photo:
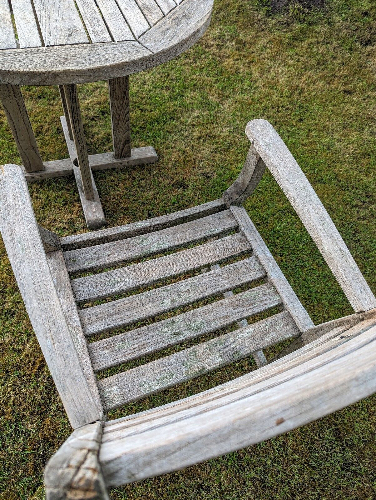
{"label": "chair seat slat, second from the backrest", "polygon": [[177,316],[90,342],[93,369],[104,370],[186,342],[281,303],[273,285],[265,283]]}

